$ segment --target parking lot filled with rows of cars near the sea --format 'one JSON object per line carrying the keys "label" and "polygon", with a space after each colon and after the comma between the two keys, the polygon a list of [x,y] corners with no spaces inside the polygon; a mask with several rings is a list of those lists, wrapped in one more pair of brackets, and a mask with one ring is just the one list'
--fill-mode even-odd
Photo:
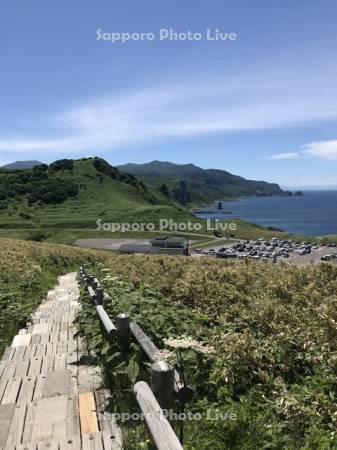
{"label": "parking lot filled with rows of cars near the sea", "polygon": [[246,240],[234,244],[207,249],[196,249],[192,256],[216,258],[251,259],[255,261],[280,262],[294,264],[316,264],[321,261],[337,262],[337,244],[299,242],[272,238],[270,240]]}

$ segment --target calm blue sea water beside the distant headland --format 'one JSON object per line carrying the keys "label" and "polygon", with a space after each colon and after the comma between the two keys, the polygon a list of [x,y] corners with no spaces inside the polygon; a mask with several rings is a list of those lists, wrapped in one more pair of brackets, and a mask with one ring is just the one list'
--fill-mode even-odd
{"label": "calm blue sea water beside the distant headland", "polygon": [[214,208],[214,214],[196,215],[203,219],[240,218],[307,236],[337,234],[337,191],[306,191],[298,197],[242,198],[224,201],[222,207],[232,214],[222,214]]}

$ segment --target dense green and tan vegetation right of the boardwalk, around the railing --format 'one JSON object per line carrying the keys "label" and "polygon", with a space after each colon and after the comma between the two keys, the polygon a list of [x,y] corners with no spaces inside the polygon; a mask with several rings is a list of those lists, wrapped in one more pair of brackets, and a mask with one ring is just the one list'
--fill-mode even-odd
{"label": "dense green and tan vegetation right of the boardwalk, around the railing", "polygon": [[[162,349],[178,336],[214,349],[191,348],[185,363],[195,391],[186,411],[203,417],[185,423],[186,449],[336,448],[337,267],[110,255],[93,271],[114,299],[111,317],[129,313]],[[80,331],[115,408],[133,411],[131,386],[149,379],[148,364],[137,346],[110,345],[83,302]],[[207,420],[216,412],[225,419]],[[143,433],[128,423],[127,448]]]}

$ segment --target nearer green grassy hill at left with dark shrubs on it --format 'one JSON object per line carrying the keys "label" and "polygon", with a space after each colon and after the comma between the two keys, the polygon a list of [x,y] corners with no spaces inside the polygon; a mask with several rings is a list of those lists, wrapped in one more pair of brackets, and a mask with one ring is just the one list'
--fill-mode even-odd
{"label": "nearer green grassy hill at left with dark shrubs on it", "polygon": [[100,158],[0,170],[1,228],[90,228],[105,222],[190,218],[174,201]]}

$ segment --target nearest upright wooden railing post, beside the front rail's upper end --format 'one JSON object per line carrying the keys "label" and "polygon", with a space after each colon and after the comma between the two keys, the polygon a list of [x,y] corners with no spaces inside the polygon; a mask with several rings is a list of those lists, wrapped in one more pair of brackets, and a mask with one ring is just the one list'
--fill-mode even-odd
{"label": "nearest upright wooden railing post, beside the front rail's upper end", "polygon": [[162,409],[173,407],[174,369],[164,360],[158,360],[151,366],[151,389]]}

